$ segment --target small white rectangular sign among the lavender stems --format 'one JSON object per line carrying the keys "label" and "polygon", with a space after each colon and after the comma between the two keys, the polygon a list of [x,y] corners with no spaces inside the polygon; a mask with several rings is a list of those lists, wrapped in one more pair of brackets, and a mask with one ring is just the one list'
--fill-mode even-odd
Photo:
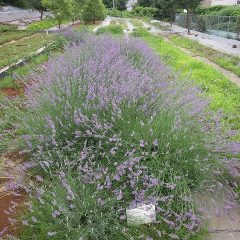
{"label": "small white rectangular sign among the lavender stems", "polygon": [[156,210],[153,204],[143,204],[136,208],[127,209],[127,222],[131,225],[148,224],[156,221]]}

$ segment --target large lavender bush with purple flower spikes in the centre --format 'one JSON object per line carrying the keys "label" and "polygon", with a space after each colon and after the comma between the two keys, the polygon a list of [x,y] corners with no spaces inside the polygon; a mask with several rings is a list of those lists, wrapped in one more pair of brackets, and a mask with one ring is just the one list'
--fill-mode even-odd
{"label": "large lavender bush with purple flower spikes in the centre", "polygon": [[[19,112],[37,173],[15,186],[29,195],[21,239],[196,239],[193,195],[228,152],[219,116],[143,42],[66,37]],[[157,221],[127,225],[126,208],[144,203]]]}

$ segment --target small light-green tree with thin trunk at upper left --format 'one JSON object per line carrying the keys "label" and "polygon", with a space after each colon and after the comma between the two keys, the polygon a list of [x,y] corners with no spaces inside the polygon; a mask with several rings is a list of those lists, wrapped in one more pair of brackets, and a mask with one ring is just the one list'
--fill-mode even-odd
{"label": "small light-green tree with thin trunk at upper left", "polygon": [[42,4],[57,19],[59,29],[61,28],[62,21],[71,16],[72,0],[42,0]]}

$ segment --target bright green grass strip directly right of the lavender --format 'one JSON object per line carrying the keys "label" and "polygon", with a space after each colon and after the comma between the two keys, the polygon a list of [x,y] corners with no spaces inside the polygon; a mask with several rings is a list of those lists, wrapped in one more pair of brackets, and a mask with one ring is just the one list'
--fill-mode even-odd
{"label": "bright green grass strip directly right of the lavender", "polygon": [[144,29],[138,29],[136,32],[173,70],[178,72],[181,78],[193,79],[206,92],[211,99],[212,109],[222,110],[227,114],[225,117],[227,124],[234,124],[234,128],[240,129],[238,86],[213,67],[195,60],[162,37],[148,33]]}

